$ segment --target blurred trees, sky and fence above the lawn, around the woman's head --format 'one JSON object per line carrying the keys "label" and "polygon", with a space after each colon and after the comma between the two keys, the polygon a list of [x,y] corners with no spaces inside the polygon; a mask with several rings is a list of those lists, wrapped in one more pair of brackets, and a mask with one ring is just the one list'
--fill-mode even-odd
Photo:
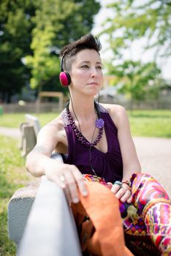
{"label": "blurred trees, sky and fence above the lawn, around the woman's head", "polygon": [[[84,34],[102,42],[101,102],[126,108],[171,108],[171,3],[31,0],[0,3],[1,111],[56,111],[60,49]],[[43,99],[42,91],[58,91]],[[42,99],[42,108],[36,101]],[[46,106],[43,103],[46,102]],[[47,102],[54,102],[48,105]]]}

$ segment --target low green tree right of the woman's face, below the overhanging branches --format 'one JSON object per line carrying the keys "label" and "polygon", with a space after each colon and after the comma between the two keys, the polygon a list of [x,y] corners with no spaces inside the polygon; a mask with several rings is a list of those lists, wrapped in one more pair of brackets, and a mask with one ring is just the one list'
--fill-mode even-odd
{"label": "low green tree right of the woman's face, below the overhanging branches", "polygon": [[140,61],[123,61],[115,69],[108,66],[110,73],[115,75],[120,87],[118,92],[126,94],[128,99],[153,99],[159,94],[161,71],[155,62],[142,64]]}

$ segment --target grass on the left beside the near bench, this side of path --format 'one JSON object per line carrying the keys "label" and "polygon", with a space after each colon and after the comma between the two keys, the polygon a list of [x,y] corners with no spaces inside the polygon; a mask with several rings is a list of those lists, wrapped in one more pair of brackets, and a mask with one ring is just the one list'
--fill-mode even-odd
{"label": "grass on the left beside the near bench, this side of path", "polygon": [[33,179],[25,170],[20,157],[18,141],[0,135],[0,255],[15,256],[15,244],[7,234],[7,205],[19,187],[25,187]]}

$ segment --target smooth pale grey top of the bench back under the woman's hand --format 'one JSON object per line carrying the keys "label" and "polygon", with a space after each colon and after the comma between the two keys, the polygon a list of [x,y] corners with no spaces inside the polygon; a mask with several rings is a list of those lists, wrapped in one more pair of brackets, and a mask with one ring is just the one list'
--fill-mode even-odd
{"label": "smooth pale grey top of the bench back under the woman's hand", "polygon": [[72,211],[64,191],[42,177],[18,249],[18,256],[80,256]]}

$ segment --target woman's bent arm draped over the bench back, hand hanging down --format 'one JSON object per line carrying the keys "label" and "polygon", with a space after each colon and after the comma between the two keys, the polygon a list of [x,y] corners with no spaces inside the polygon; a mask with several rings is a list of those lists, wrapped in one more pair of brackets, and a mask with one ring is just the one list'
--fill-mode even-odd
{"label": "woman's bent arm draped over the bench back, hand hanging down", "polygon": [[51,159],[50,156],[61,138],[61,126],[58,121],[52,121],[43,127],[37,137],[37,145],[26,157],[27,170],[36,177],[45,175],[64,189],[70,202],[78,203],[77,188],[83,196],[87,189],[83,176],[75,165],[66,165]]}

